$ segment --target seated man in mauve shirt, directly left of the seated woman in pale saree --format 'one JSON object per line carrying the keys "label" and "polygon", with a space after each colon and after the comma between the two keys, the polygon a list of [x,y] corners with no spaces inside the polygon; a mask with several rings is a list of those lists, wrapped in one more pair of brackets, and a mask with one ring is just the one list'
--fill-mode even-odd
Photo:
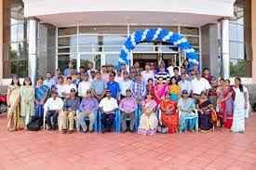
{"label": "seated man in mauve shirt, directly left of the seated woman in pale saree", "polygon": [[119,109],[122,111],[122,131],[127,132],[127,119],[129,119],[129,131],[133,132],[135,111],[137,110],[136,99],[131,96],[130,89],[126,91],[126,98],[123,98],[119,104]]}

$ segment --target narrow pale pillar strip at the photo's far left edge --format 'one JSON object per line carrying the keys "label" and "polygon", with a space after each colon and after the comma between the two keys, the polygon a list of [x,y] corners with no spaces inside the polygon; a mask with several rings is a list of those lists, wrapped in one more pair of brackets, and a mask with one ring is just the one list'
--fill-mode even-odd
{"label": "narrow pale pillar strip at the photo's far left edge", "polygon": [[[3,79],[3,66],[4,66],[4,0],[0,0],[0,80]],[[1,83],[0,83],[1,84]]]}

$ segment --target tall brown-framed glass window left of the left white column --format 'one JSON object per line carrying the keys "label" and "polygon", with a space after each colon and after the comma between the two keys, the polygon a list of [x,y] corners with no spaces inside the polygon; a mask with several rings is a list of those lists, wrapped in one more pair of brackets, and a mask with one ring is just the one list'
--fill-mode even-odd
{"label": "tall brown-framed glass window left of the left white column", "polygon": [[28,23],[23,17],[23,1],[9,0],[4,6],[4,78],[11,74],[25,77],[28,75]]}

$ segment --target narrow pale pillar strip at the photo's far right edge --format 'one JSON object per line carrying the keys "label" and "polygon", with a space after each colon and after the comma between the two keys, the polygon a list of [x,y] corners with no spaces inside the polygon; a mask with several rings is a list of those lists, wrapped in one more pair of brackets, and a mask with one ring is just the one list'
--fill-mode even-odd
{"label": "narrow pale pillar strip at the photo's far right edge", "polygon": [[252,82],[256,84],[256,1],[251,0]]}

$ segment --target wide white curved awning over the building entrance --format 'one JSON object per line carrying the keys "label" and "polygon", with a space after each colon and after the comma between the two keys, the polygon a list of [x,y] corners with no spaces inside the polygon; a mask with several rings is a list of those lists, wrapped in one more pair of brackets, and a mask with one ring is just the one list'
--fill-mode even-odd
{"label": "wide white curved awning over the building entrance", "polygon": [[25,16],[59,27],[81,25],[202,26],[233,16],[234,0],[24,0]]}

